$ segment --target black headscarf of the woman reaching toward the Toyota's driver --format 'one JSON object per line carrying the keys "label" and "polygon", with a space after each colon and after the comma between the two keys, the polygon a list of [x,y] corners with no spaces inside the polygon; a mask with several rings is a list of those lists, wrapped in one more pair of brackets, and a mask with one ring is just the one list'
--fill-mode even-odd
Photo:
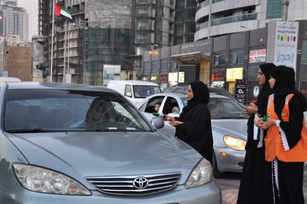
{"label": "black headscarf of the woman reaching toward the Toyota's driver", "polygon": [[193,92],[193,98],[188,100],[188,105],[182,109],[179,120],[181,121],[185,114],[198,104],[208,104],[209,103],[209,89],[206,84],[201,81],[190,82],[191,89]]}

